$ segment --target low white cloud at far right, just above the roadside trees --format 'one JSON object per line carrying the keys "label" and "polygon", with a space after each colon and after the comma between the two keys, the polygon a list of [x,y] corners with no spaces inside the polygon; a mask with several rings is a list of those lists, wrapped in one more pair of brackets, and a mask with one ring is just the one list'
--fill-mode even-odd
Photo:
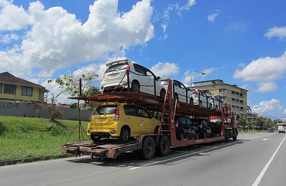
{"label": "low white cloud at far right, just above the roadside trees", "polygon": [[[280,100],[272,98],[270,101],[261,101],[259,105],[251,106],[253,112],[257,112],[260,116],[268,116],[274,118],[283,117],[283,106]],[[285,115],[284,115],[285,117]]]}

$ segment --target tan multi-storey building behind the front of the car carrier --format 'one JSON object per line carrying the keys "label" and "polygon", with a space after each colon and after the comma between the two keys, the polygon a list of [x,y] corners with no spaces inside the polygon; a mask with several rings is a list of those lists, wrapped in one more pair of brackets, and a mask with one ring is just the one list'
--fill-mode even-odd
{"label": "tan multi-storey building behind the front of the car carrier", "polygon": [[192,88],[209,92],[220,96],[224,103],[231,105],[231,109],[242,118],[247,118],[247,92],[248,90],[239,88],[237,85],[230,85],[223,80],[209,80],[194,82]]}

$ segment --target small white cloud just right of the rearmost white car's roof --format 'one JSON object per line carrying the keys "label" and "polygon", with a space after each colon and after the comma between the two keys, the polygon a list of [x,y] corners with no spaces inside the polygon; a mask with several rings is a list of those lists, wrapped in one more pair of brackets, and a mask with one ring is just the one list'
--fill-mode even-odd
{"label": "small white cloud just right of the rearmost white car's roof", "polygon": [[170,76],[172,74],[177,74],[179,71],[179,67],[178,64],[175,63],[159,62],[156,65],[152,66],[151,70],[156,74],[156,76]]}

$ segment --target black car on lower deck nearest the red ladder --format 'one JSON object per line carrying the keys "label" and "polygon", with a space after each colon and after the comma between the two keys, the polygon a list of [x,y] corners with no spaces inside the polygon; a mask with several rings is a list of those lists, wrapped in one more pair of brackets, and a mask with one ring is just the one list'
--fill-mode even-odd
{"label": "black car on lower deck nearest the red ladder", "polygon": [[199,138],[198,127],[186,116],[175,116],[176,136],[178,140],[185,138]]}

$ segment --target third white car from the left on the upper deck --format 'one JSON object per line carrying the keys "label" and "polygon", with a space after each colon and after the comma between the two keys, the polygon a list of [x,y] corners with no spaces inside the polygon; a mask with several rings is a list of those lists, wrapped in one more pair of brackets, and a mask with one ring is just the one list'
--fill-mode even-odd
{"label": "third white car from the left on the upper deck", "polygon": [[192,100],[190,100],[190,102],[193,102],[194,105],[198,105],[200,107],[209,108],[210,103],[208,102],[208,96],[206,93],[200,89],[190,89],[190,87],[188,87],[188,89],[192,95]]}

